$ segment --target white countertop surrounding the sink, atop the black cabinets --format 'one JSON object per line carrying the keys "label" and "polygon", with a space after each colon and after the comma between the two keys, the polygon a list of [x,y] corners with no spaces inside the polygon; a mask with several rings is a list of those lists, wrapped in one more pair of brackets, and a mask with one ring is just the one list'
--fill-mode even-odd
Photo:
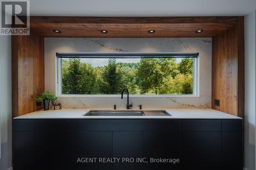
{"label": "white countertop surrounding the sink, atop the black cabinets", "polygon": [[171,116],[83,116],[90,110],[110,109],[62,109],[62,110],[40,110],[14,119],[67,119],[67,118],[130,118],[130,119],[242,119],[214,109],[143,109],[143,110],[165,110]]}

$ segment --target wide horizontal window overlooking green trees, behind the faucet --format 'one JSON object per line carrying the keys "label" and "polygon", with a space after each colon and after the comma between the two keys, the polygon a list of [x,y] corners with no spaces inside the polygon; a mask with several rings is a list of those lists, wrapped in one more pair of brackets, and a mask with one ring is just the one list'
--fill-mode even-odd
{"label": "wide horizontal window overlooking green trees, behind the faucet", "polygon": [[197,95],[198,54],[57,53],[59,95]]}

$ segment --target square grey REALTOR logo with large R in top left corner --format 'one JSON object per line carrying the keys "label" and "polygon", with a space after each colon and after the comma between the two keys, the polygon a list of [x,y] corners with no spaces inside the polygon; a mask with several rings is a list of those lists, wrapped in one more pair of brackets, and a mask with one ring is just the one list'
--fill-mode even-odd
{"label": "square grey REALTOR logo with large R in top left corner", "polygon": [[29,0],[1,1],[0,35],[29,35]]}

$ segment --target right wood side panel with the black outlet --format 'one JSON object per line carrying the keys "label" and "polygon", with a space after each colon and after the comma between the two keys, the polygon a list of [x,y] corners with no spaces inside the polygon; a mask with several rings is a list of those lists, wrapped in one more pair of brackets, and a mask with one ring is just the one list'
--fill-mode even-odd
{"label": "right wood side panel with the black outlet", "polygon": [[211,90],[212,109],[244,117],[244,17],[212,38]]}

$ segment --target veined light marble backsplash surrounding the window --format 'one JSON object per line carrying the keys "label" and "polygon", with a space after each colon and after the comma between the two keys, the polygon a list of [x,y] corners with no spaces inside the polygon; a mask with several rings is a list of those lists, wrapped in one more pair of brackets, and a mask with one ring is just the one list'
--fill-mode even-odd
{"label": "veined light marble backsplash surrounding the window", "polygon": [[[211,107],[211,38],[45,38],[45,89],[56,92],[55,53],[199,53],[199,96],[132,95],[134,105],[148,108]],[[118,95],[58,96],[62,108],[123,109]]]}

